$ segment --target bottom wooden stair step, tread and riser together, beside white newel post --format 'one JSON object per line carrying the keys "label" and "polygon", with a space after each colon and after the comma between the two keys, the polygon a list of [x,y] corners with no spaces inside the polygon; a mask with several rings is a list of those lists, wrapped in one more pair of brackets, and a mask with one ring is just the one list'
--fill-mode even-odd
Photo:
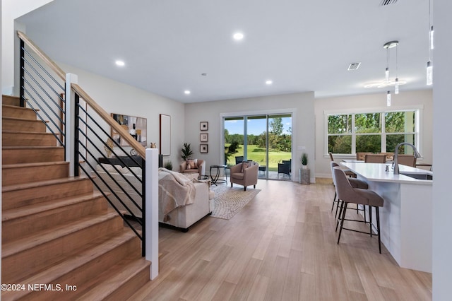
{"label": "bottom wooden stair step, tread and riser together, beside white newel post", "polygon": [[145,259],[123,260],[112,266],[93,283],[79,300],[126,300],[150,281],[150,262]]}

